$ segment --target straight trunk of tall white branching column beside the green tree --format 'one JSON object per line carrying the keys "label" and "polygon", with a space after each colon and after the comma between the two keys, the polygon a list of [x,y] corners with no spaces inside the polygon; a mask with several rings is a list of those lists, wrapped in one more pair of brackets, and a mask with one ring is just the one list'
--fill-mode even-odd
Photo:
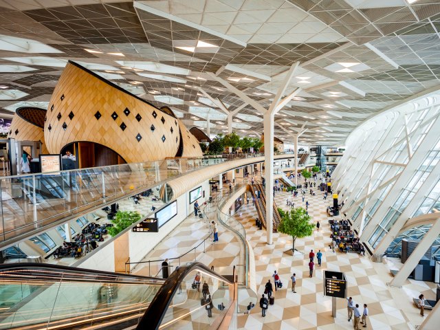
{"label": "straight trunk of tall white branching column beside the green tree", "polygon": [[272,245],[274,231],[274,111],[267,111],[263,115],[264,124],[264,163],[266,179],[266,231],[267,244]]}

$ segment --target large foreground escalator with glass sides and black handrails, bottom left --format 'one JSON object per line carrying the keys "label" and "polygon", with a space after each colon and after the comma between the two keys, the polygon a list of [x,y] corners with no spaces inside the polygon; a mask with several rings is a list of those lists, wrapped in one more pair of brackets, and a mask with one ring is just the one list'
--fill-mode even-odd
{"label": "large foreground escalator with glass sides and black handrails, bottom left", "polygon": [[[200,292],[193,288],[197,272],[210,292],[221,293],[212,303],[225,308],[212,311],[212,318],[201,304],[201,285]],[[179,329],[188,322],[212,329],[232,304],[222,300],[230,285],[200,263],[178,267],[167,280],[37,263],[0,265],[0,329]]]}

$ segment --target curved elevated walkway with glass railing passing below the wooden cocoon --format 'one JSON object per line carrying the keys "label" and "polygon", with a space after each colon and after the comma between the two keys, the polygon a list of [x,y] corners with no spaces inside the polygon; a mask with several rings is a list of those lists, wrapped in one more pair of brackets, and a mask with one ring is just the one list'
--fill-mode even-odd
{"label": "curved elevated walkway with glass railing passing below the wooden cocoon", "polygon": [[[290,155],[276,155],[276,159]],[[264,157],[177,158],[0,178],[0,249],[155,186],[166,201],[228,170]]]}

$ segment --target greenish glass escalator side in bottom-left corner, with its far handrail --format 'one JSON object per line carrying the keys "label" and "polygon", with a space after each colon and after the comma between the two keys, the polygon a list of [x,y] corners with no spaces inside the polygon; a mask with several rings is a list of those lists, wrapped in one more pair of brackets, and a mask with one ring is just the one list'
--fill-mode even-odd
{"label": "greenish glass escalator side in bottom-left corner, with its far handrail", "polygon": [[164,281],[108,274],[53,265],[3,267],[0,329],[83,329],[122,320],[137,325]]}

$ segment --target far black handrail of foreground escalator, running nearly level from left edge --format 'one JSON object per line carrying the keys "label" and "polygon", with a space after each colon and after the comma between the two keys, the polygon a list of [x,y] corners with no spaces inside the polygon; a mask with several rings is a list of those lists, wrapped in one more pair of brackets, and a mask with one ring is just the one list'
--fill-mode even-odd
{"label": "far black handrail of foreground escalator, running nearly level from left edge", "polygon": [[[72,276],[69,276],[72,275]],[[81,277],[86,276],[86,277]],[[90,276],[90,277],[87,277]],[[92,277],[93,276],[93,277]],[[162,285],[162,278],[138,276],[125,273],[88,270],[85,268],[51,265],[47,263],[10,263],[0,265],[0,279],[9,281],[47,281],[47,282],[118,282],[118,283],[150,283]]]}

